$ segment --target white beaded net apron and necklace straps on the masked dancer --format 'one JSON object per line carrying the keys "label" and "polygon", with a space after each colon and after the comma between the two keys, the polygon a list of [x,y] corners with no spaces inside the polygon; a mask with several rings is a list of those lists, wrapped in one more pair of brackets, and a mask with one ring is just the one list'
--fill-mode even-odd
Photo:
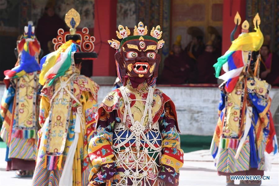
{"label": "white beaded net apron and necklace straps on the masked dancer", "polygon": [[[124,168],[124,170],[125,170],[124,176],[126,177],[126,180],[128,178],[132,179],[133,185],[137,185],[141,181],[144,181],[144,185],[146,185],[146,183],[148,183],[147,185],[150,185],[149,182],[147,181],[148,179],[154,180],[155,181],[154,184],[155,184],[156,180],[157,180],[156,172],[158,173],[157,167],[160,167],[160,164],[158,165],[155,162],[155,160],[158,158],[158,156],[160,159],[161,150],[162,150],[162,147],[161,147],[161,145],[158,144],[157,140],[161,141],[161,134],[159,132],[158,134],[156,134],[156,136],[154,136],[151,133],[153,138],[149,139],[149,135],[147,135],[147,137],[146,137],[146,135],[144,134],[146,127],[143,125],[145,118],[146,118],[147,111],[148,111],[149,129],[154,132],[159,130],[158,122],[156,122],[152,125],[153,88],[151,88],[151,87],[149,88],[146,100],[142,100],[142,99],[130,99],[129,100],[128,95],[125,91],[125,87],[122,86],[119,89],[120,89],[120,92],[124,99],[125,109],[124,109],[124,115],[123,115],[123,122],[119,123],[118,125],[115,126],[115,129],[116,129],[115,134],[117,137],[114,140],[116,140],[115,143],[117,142],[118,144],[116,145],[114,143],[113,149],[114,149],[114,152],[119,155],[119,157],[116,156],[116,163],[117,164],[119,163],[120,167]],[[146,102],[143,116],[142,116],[140,122],[134,121],[132,111],[131,111],[131,106],[130,106],[131,101]],[[125,127],[124,127],[125,122],[126,122],[127,113],[130,117],[131,124],[132,124],[132,126],[130,127],[132,133],[129,135],[128,135],[129,129],[128,128],[125,129]],[[124,132],[123,132],[119,136],[117,131],[120,131],[120,130],[127,131],[127,135],[123,136],[123,134],[124,134]],[[124,139],[124,141],[122,141],[122,140],[120,141],[120,139]],[[134,140],[134,142],[131,143],[131,140]],[[144,141],[143,144],[142,144],[141,140]],[[152,140],[153,140],[153,143],[151,143]],[[120,147],[125,147],[125,144],[127,144],[127,143],[129,143],[129,147],[126,147],[125,151],[121,151]],[[159,145],[159,147],[155,147],[154,143]],[[133,152],[134,152],[132,150],[133,144],[135,144],[135,147],[136,147],[137,158],[133,156]],[[139,153],[141,144],[142,144],[143,150],[141,153]],[[146,144],[148,145],[148,147],[150,147],[153,150],[153,152],[152,151],[148,152],[148,149],[145,147]],[[127,157],[125,159],[126,155],[127,155]],[[128,156],[130,156],[130,158],[132,158],[132,160],[133,160],[132,162],[128,161]],[[149,160],[147,160],[147,158]],[[145,161],[144,162],[141,161],[142,159],[145,159]],[[132,167],[135,167],[135,169],[136,169],[135,172],[132,170]],[[147,176],[148,175],[147,171],[150,171],[152,169],[153,169],[153,173],[154,173],[155,177]],[[139,171],[143,171],[142,175],[139,175]],[[116,185],[127,185],[127,182],[126,182],[126,184],[121,184],[121,181],[123,181],[123,180],[124,180],[124,178],[122,178],[120,180],[120,183],[116,183]]]}

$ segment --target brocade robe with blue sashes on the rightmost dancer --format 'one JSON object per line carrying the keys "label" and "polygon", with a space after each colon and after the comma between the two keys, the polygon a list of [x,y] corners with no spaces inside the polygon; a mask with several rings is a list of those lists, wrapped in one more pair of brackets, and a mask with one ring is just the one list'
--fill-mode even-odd
{"label": "brocade robe with blue sashes on the rightmost dancer", "polygon": [[226,92],[226,83],[219,86],[220,117],[210,148],[218,174],[263,175],[264,152],[275,154],[278,150],[269,111],[271,86],[254,75],[245,77],[243,73],[232,92]]}

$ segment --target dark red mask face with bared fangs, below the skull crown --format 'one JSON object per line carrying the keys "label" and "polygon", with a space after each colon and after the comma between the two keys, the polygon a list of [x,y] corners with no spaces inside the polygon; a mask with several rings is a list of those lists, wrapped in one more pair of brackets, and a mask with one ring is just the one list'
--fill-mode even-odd
{"label": "dark red mask face with bared fangs, below the skull crown", "polygon": [[121,70],[121,75],[130,77],[158,77],[158,67],[161,61],[157,54],[157,43],[153,41],[131,40],[119,48],[115,59]]}

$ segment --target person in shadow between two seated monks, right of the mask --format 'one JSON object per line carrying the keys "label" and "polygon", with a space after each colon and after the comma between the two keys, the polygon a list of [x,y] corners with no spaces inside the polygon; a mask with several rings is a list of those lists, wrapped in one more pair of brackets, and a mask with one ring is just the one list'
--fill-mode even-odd
{"label": "person in shadow between two seated monks, right of the mask", "polygon": [[198,27],[189,27],[187,33],[192,36],[192,40],[183,51],[183,57],[189,66],[187,83],[197,83],[198,69],[197,59],[204,51],[203,32]]}

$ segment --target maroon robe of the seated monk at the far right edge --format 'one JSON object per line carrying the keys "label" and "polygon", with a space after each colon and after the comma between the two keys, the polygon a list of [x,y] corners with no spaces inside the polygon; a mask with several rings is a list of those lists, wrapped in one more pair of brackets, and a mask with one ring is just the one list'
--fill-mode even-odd
{"label": "maroon robe of the seated monk at the far right edge", "polygon": [[[276,53],[269,53],[271,61],[264,61],[263,58],[261,59],[260,65],[260,74],[270,69],[270,73],[264,78],[269,84],[272,86],[279,86],[279,57]],[[265,64],[268,62],[268,66]],[[269,67],[269,68],[268,68]]]}

